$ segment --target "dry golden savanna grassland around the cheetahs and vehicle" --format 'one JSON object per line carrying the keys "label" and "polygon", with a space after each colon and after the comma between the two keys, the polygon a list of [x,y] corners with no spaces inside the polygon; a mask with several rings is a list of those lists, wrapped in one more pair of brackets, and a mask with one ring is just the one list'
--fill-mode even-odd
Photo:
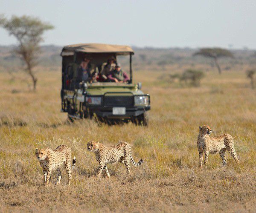
{"label": "dry golden savanna grassland around the cheetahs and vehicle", "polygon": [[[256,90],[244,70],[218,75],[206,72],[198,88],[170,83],[168,72],[134,72],[143,91],[151,94],[148,127],[133,124],[99,127],[94,121],[67,122],[60,112],[61,73],[42,70],[36,92],[0,73],[0,211],[256,211]],[[21,75],[21,74],[17,74]],[[209,155],[198,168],[198,126],[208,124],[212,136],[235,138],[240,164],[227,153]],[[95,155],[86,150],[90,140],[113,145],[132,144],[140,167],[131,166],[126,178],[122,164],[109,166],[111,179],[95,177]],[[71,186],[63,171],[48,187],[35,158],[35,148],[67,144],[76,156]]]}

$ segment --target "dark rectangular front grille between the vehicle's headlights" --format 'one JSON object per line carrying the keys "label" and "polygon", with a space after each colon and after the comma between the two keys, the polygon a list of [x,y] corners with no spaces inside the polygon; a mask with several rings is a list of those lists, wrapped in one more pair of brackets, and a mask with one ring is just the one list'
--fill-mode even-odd
{"label": "dark rectangular front grille between the vehicle's headlights", "polygon": [[106,107],[132,107],[134,105],[133,96],[105,96],[104,106]]}

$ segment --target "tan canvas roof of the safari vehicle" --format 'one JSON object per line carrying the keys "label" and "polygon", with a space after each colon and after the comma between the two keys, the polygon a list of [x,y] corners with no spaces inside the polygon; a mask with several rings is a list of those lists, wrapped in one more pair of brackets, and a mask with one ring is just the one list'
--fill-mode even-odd
{"label": "tan canvas roof of the safari vehicle", "polygon": [[84,53],[116,53],[116,55],[134,54],[130,46],[101,44],[101,43],[79,43],[64,46],[61,56],[74,55],[74,52]]}

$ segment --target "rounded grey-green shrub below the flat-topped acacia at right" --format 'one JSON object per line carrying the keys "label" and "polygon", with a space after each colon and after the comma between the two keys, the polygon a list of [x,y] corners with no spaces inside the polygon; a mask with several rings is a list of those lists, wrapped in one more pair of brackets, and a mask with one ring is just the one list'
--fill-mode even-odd
{"label": "rounded grey-green shrub below the flat-topped acacia at right", "polygon": [[180,81],[190,83],[192,86],[200,86],[202,78],[204,78],[203,71],[196,69],[186,69],[180,76]]}

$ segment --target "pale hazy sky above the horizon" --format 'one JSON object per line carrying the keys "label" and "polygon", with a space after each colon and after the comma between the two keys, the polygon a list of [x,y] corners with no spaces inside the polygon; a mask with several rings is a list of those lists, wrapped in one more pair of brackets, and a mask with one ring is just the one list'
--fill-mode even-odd
{"label": "pale hazy sky above the horizon", "polygon": [[[0,14],[52,23],[44,44],[256,49],[256,0],[0,0]],[[15,42],[0,29],[0,45]]]}

